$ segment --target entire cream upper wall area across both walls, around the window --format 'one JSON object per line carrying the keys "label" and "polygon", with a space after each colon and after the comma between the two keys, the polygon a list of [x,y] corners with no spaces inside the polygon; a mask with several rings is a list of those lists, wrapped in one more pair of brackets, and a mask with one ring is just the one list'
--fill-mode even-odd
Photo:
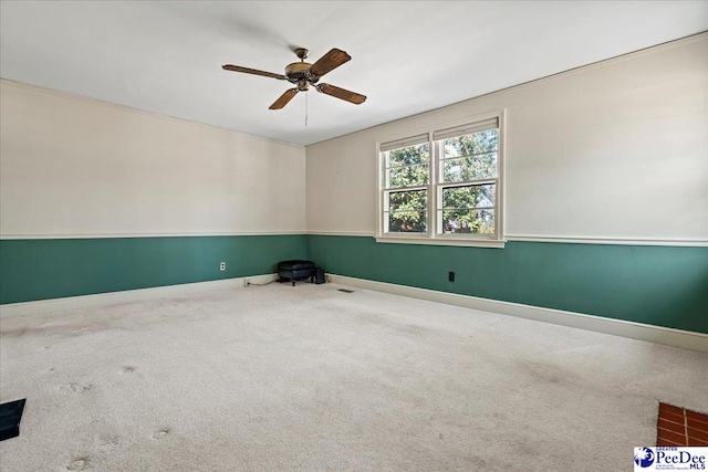
{"label": "entire cream upper wall area across both walls, around the window", "polygon": [[377,140],[503,108],[508,235],[708,241],[708,34],[309,146],[306,159],[7,81],[0,101],[2,238],[373,234]]}

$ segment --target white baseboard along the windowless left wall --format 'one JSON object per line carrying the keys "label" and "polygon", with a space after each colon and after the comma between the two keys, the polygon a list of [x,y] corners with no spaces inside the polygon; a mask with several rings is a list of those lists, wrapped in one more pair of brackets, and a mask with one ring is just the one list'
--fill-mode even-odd
{"label": "white baseboard along the windowless left wall", "polygon": [[168,298],[191,293],[212,292],[216,290],[242,289],[246,286],[247,281],[251,284],[264,284],[277,279],[278,274],[249,275],[247,277],[220,281],[126,290],[123,292],[98,293],[95,295],[67,296],[65,298],[40,300],[37,302],[9,303],[0,305],[0,317],[39,315],[87,306],[115,305],[118,303]]}

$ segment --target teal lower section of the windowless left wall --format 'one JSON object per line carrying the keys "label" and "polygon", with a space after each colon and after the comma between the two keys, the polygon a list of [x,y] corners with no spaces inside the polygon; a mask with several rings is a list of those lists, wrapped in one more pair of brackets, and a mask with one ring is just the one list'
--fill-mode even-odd
{"label": "teal lower section of the windowless left wall", "polygon": [[1,240],[0,303],[274,273],[305,255],[303,234]]}

